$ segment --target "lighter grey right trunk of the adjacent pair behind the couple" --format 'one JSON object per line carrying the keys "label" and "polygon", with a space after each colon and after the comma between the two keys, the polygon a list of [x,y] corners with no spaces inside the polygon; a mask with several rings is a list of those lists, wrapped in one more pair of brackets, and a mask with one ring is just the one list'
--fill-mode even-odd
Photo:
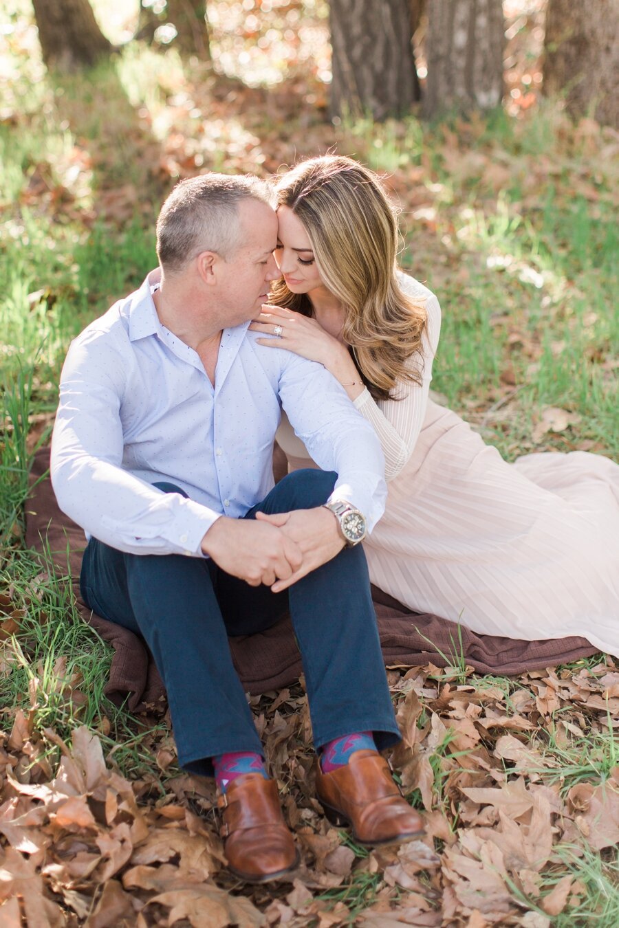
{"label": "lighter grey right trunk of the adjacent pair behind the couple", "polygon": [[503,97],[501,0],[431,0],[424,114],[489,110]]}

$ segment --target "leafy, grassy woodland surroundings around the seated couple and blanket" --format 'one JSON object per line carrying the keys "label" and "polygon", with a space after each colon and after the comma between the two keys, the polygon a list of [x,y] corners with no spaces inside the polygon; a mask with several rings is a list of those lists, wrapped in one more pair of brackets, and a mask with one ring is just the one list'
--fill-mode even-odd
{"label": "leafy, grassy woodland surroundings around the seated couple and blanket", "polygon": [[[71,338],[156,263],[179,178],[337,151],[383,177],[443,307],[432,386],[509,459],[617,456],[619,0],[5,0],[0,8],[0,922],[619,924],[608,656],[389,673],[421,847],[372,852],[308,786],[303,683],[251,700],[303,848],[222,870],[213,788],[25,545]],[[419,845],[419,843],[418,843]],[[3,921],[6,919],[6,921]]]}

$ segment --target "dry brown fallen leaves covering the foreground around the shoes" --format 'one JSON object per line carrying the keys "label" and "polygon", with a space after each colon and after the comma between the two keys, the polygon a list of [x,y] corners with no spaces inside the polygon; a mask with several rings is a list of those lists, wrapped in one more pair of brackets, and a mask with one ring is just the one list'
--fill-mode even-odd
{"label": "dry brown fallen leaves covering the foreground around the shoes", "polygon": [[[509,682],[471,677],[466,667],[452,677],[432,666],[389,677],[404,736],[391,759],[424,810],[427,837],[368,853],[329,826],[315,798],[300,684],[252,700],[303,852],[290,882],[257,889],[226,872],[211,780],[180,773],[162,790],[154,776],[128,780],[113,753],[106,763],[97,733],[76,728],[70,748],[53,729],[32,729],[36,702],[30,713],[20,710],[0,748],[2,923],[19,925],[22,912],[29,925],[85,920],[97,928],[610,928],[617,899],[605,897],[603,882],[591,885],[590,871],[606,859],[611,880],[617,876],[613,664]],[[146,735],[142,747],[161,770],[174,762],[169,730]]]}

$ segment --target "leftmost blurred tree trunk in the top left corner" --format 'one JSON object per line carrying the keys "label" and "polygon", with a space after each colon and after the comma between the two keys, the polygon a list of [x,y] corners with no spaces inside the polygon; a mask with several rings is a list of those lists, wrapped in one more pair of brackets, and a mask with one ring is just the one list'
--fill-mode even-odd
{"label": "leftmost blurred tree trunk in the top left corner", "polygon": [[47,67],[73,71],[110,55],[88,0],[32,0]]}

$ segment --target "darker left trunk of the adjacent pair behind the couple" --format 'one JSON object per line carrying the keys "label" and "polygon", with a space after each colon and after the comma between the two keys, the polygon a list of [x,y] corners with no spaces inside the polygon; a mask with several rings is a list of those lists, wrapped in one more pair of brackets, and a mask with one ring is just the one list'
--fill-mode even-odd
{"label": "darker left trunk of the adjacent pair behind the couple", "polygon": [[419,99],[409,0],[330,0],[331,114],[402,116]]}

